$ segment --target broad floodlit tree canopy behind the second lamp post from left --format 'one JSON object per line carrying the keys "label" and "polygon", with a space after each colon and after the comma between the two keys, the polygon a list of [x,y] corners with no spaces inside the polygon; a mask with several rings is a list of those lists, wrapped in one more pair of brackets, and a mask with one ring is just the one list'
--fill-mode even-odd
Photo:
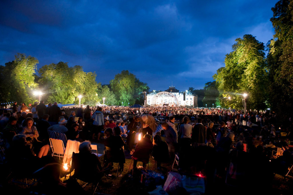
{"label": "broad floodlit tree canopy behind the second lamp post from left", "polygon": [[85,73],[81,66],[68,67],[64,62],[52,63],[40,68],[39,74],[48,102],[78,104],[79,95],[83,96],[81,103],[92,104],[100,100],[96,95],[96,74]]}

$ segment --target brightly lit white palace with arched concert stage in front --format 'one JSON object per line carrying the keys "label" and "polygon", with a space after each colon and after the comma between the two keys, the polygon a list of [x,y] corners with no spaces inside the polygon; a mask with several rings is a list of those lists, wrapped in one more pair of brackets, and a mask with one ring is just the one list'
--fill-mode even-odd
{"label": "brightly lit white palace with arched concert stage in front", "polygon": [[[185,100],[184,100],[185,93]],[[195,106],[197,107],[197,95],[185,90],[179,92],[174,86],[165,91],[153,90],[147,94],[147,105],[149,106]]]}

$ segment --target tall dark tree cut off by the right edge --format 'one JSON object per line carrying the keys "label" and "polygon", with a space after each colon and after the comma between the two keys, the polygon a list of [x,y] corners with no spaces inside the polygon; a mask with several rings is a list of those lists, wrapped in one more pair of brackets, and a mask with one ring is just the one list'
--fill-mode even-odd
{"label": "tall dark tree cut off by the right edge", "polygon": [[269,100],[272,110],[284,116],[293,108],[293,1],[278,1],[272,11],[275,34],[268,44]]}

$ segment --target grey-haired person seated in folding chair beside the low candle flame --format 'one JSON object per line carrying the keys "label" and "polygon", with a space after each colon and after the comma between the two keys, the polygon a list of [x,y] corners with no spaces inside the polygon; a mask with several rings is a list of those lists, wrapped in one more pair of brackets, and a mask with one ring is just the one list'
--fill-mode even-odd
{"label": "grey-haired person seated in folding chair beside the low candle flame", "polygon": [[102,166],[99,158],[91,153],[91,142],[84,141],[79,145],[79,153],[72,154],[71,171],[74,169],[73,178],[82,181],[98,182],[101,177]]}

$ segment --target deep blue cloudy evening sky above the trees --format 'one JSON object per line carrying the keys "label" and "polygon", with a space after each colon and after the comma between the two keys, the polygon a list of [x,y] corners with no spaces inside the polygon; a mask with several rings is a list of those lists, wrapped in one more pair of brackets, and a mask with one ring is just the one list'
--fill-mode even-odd
{"label": "deep blue cloudy evening sky above the trees", "polygon": [[273,36],[276,0],[11,1],[0,3],[0,65],[24,53],[38,68],[59,61],[109,84],[129,70],[150,90],[202,89],[235,39]]}

